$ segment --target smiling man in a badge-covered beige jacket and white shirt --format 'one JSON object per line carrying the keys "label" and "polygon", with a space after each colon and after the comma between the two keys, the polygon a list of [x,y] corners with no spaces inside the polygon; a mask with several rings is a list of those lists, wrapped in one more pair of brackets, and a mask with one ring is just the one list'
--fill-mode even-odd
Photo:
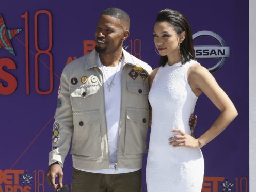
{"label": "smiling man in a badge-covered beige jacket and white shirt", "polygon": [[123,10],[104,10],[95,50],[63,70],[47,173],[55,190],[62,187],[71,139],[73,192],[141,189],[152,68],[122,49],[129,28]]}

